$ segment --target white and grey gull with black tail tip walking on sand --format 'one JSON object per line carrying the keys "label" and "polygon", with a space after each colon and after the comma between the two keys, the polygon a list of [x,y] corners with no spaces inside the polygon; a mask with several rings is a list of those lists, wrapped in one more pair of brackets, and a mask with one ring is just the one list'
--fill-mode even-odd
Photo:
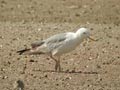
{"label": "white and grey gull with black tail tip walking on sand", "polygon": [[55,71],[61,71],[60,57],[63,54],[73,51],[85,39],[95,39],[90,37],[90,31],[87,28],[80,28],[76,32],[66,32],[56,34],[48,39],[33,42],[31,48],[17,51],[21,54],[47,54],[55,62]]}

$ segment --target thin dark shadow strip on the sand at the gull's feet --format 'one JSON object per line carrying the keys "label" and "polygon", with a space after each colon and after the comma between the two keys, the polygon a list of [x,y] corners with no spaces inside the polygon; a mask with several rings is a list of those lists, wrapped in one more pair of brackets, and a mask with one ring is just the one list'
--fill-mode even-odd
{"label": "thin dark shadow strip on the sand at the gull's feet", "polygon": [[54,72],[54,73],[70,73],[70,74],[98,74],[98,72],[93,72],[93,71],[54,71],[54,70],[46,70],[46,71],[41,71],[41,72]]}

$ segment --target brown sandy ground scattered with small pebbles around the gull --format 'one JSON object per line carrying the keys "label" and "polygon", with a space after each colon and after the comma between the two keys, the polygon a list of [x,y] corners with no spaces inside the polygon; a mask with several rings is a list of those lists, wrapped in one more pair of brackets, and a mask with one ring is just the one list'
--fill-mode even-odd
{"label": "brown sandy ground scattered with small pebbles around the gull", "polygon": [[[80,27],[99,40],[65,54],[61,73],[46,55],[16,53]],[[119,0],[0,0],[0,90],[120,90],[119,71]]]}

